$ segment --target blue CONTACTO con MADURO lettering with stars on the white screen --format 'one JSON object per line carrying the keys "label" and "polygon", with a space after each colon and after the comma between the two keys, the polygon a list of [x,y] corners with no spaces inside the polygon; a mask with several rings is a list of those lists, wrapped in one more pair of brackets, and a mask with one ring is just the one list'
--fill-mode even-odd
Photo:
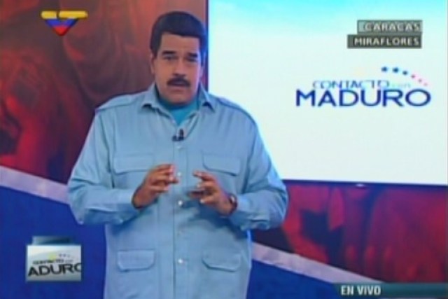
{"label": "blue CONTACTO con MADURO lettering with stars on the white screen", "polygon": [[368,79],[316,80],[309,90],[297,89],[297,107],[391,108],[428,106],[429,83],[419,74],[400,67],[384,66]]}

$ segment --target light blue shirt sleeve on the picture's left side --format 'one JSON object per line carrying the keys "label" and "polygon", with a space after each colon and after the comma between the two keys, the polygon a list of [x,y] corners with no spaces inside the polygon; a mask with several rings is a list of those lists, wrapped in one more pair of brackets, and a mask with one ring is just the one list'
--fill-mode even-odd
{"label": "light blue shirt sleeve on the picture's left side", "polygon": [[113,188],[107,137],[97,113],[68,183],[71,211],[80,224],[119,224],[139,214],[132,204],[135,190]]}

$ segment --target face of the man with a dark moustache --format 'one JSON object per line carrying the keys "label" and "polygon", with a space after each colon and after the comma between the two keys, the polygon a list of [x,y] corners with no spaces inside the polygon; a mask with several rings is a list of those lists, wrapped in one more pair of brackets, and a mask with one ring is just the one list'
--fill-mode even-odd
{"label": "face of the man with a dark moustache", "polygon": [[162,35],[157,56],[151,54],[151,69],[163,99],[186,104],[195,97],[203,71],[201,59],[199,39]]}

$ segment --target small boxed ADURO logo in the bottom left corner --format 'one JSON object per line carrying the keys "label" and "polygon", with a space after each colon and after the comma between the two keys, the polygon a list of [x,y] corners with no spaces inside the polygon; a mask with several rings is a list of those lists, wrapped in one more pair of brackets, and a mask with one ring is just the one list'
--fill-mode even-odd
{"label": "small boxed ADURO logo in the bottom left corner", "polygon": [[81,246],[68,237],[33,237],[27,246],[27,281],[80,281]]}

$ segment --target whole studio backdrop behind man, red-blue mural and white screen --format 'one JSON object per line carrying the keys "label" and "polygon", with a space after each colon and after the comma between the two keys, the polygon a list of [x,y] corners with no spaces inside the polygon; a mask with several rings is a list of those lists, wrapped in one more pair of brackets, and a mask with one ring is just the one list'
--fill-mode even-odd
{"label": "whole studio backdrop behind man, red-blue mural and white screen", "polygon": [[[73,10],[87,18],[63,36],[41,14]],[[251,113],[288,187],[285,223],[253,232],[248,298],[447,281],[446,1],[9,0],[0,298],[102,298],[104,228],[74,221],[65,184],[94,109],[153,82],[151,26],[172,10],[207,24],[202,82]],[[26,281],[27,245],[49,235],[82,246],[80,282]]]}

